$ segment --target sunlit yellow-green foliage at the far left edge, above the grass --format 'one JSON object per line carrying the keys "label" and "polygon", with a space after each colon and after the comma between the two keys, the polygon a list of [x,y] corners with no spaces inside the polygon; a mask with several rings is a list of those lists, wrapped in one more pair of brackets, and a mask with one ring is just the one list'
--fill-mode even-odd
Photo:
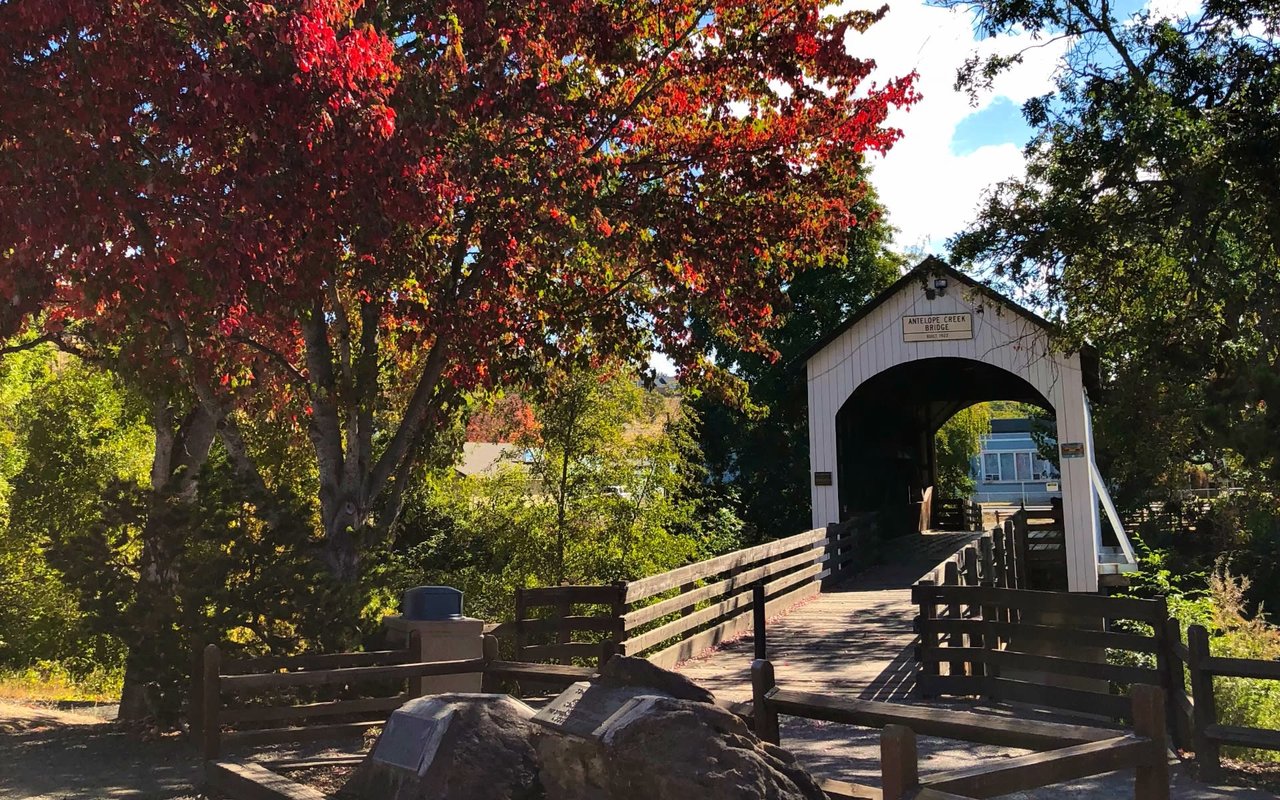
{"label": "sunlit yellow-green foliage at the far left edge, above the grass", "polygon": [[[120,485],[147,484],[145,404],[108,372],[51,348],[28,349],[0,364],[0,438],[8,499],[0,515],[0,663],[120,667],[118,631],[93,625],[84,603],[91,586],[105,602],[122,602],[106,573],[138,548],[128,527],[115,531],[108,550],[93,544],[109,513],[104,498]],[[90,584],[68,580],[69,559],[97,556]]]}

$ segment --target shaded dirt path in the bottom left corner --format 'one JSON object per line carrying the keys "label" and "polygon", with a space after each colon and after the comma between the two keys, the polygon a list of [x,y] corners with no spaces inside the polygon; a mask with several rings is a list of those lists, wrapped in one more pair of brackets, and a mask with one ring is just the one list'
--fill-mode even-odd
{"label": "shaded dirt path in the bottom left corner", "polygon": [[196,753],[90,713],[0,701],[0,799],[197,800]]}

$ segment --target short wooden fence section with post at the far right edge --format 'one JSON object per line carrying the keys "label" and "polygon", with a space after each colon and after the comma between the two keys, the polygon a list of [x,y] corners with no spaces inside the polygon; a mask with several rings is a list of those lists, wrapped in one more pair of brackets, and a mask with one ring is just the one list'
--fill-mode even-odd
{"label": "short wooden fence section with post at the far right edge", "polygon": [[1176,620],[1169,620],[1166,630],[1172,653],[1175,731],[1196,750],[1203,780],[1221,776],[1224,745],[1280,750],[1280,731],[1221,724],[1213,689],[1215,677],[1280,681],[1280,662],[1210,655],[1208,631],[1199,625],[1187,628],[1185,644]]}

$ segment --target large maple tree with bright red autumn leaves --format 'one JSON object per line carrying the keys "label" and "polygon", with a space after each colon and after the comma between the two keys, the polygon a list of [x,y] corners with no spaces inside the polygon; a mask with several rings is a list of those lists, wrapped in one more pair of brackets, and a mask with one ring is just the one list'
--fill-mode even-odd
{"label": "large maple tree with bright red autumn leaves", "polygon": [[259,483],[236,410],[297,410],[351,579],[463,393],[765,347],[914,100],[847,52],[883,10],[822,6],[13,0],[0,335],[168,376]]}

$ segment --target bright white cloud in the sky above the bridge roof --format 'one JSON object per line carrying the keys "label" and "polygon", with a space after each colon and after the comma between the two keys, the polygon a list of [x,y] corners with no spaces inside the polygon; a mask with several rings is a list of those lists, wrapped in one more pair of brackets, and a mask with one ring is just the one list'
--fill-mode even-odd
{"label": "bright white cloud in the sky above the bridge roof", "polygon": [[[878,8],[878,3],[851,0],[838,6],[850,8]],[[969,14],[927,6],[920,0],[891,4],[884,19],[865,33],[849,36],[846,45],[851,54],[876,60],[872,81],[884,82],[911,70],[919,73],[916,87],[922,100],[890,118],[891,124],[902,129],[902,138],[887,156],[872,160],[872,183],[888,209],[890,221],[899,228],[900,246],[940,251],[945,239],[973,218],[983,189],[1021,174],[1021,142],[956,155],[952,137],[961,120],[997,99],[1006,97],[1020,106],[1027,99],[1050,91],[1066,44],[1027,51],[1024,63],[997,78],[977,106],[952,86],[956,68],[974,51],[1010,54],[1037,44],[1030,36],[975,41]]]}

